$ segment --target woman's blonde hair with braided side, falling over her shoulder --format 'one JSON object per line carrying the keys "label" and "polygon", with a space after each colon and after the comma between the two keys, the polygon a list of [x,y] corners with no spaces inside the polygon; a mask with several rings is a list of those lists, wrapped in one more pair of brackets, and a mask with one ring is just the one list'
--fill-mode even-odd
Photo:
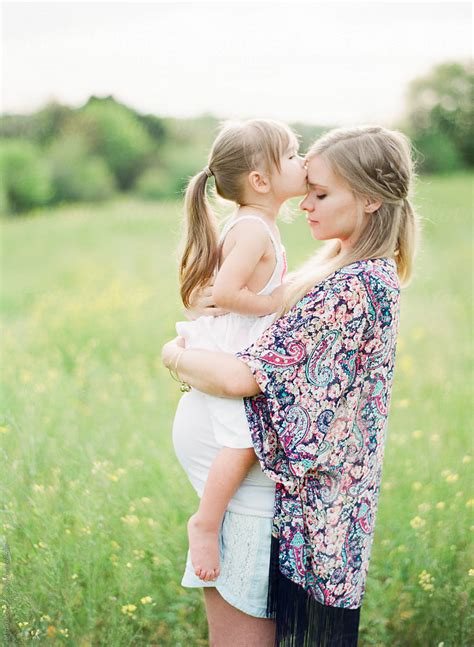
{"label": "woman's blonde hair with braided side, falling over her shoulder", "polygon": [[410,202],[414,164],[411,144],[401,132],[381,126],[337,128],[310,148],[307,159],[324,157],[354,196],[381,200],[348,251],[327,241],[291,277],[279,315],[316,284],[345,265],[370,258],[394,258],[401,285],[409,282],[419,236],[419,218]]}

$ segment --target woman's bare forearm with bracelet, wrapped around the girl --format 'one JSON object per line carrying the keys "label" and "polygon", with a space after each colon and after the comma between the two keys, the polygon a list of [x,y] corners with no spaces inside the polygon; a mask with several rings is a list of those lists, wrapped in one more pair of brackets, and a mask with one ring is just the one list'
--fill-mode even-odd
{"label": "woman's bare forearm with bracelet, wrapped around the girl", "polygon": [[175,369],[178,360],[180,379],[199,391],[226,398],[260,393],[250,368],[234,355],[194,348],[183,350],[182,338],[167,342],[162,349],[163,364]]}

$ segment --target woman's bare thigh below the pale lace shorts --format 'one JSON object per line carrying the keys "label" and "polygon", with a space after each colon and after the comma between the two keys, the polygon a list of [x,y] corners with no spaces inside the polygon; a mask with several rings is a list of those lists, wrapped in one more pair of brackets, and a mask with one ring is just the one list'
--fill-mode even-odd
{"label": "woman's bare thigh below the pale lace shorts", "polygon": [[204,589],[210,647],[274,647],[275,621],[236,609],[212,588]]}

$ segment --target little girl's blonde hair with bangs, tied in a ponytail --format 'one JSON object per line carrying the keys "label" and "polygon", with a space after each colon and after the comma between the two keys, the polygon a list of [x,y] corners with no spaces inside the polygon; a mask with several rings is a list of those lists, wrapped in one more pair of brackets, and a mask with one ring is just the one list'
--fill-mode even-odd
{"label": "little girl's blonde hair with bangs, tied in a ponytail", "polygon": [[255,170],[280,171],[280,160],[298,147],[288,126],[267,119],[228,122],[221,128],[209,154],[207,169],[189,182],[185,196],[186,235],[179,279],[181,299],[189,306],[192,292],[212,277],[219,261],[217,219],[207,198],[207,180],[214,176],[222,198],[242,204],[244,181]]}

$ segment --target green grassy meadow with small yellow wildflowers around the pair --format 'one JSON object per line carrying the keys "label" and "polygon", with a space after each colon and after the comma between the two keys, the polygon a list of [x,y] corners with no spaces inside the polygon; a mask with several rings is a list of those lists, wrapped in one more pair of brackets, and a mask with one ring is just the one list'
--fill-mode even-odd
{"label": "green grassy meadow with small yellow wildflowers around the pair", "polygon": [[[418,186],[361,647],[473,639],[471,181]],[[68,207],[2,230],[3,640],[206,645],[201,593],[180,587],[196,498],[159,361],[181,317],[180,205]],[[294,267],[314,241],[301,217],[281,230]]]}

